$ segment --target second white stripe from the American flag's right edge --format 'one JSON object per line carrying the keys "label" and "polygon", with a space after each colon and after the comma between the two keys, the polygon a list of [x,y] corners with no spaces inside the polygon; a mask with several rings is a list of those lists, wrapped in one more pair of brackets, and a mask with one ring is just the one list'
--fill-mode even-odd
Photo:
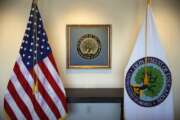
{"label": "second white stripe from the American flag's right edge", "polygon": [[66,112],[64,110],[64,107],[63,107],[59,97],[56,95],[56,93],[53,90],[52,86],[49,84],[47,78],[44,76],[41,68],[38,65],[36,65],[34,68],[35,68],[36,74],[39,74],[38,78],[39,78],[41,84],[46,89],[48,95],[51,97],[51,99],[55,103],[56,107],[58,108],[59,112],[61,113],[61,116],[65,115]]}

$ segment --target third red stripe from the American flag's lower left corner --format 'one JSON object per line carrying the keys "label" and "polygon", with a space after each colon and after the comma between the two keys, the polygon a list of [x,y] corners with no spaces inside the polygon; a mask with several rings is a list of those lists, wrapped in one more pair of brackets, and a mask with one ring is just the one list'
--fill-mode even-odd
{"label": "third red stripe from the American flag's lower left corner", "polygon": [[49,120],[49,118],[47,117],[47,115],[44,113],[43,109],[41,108],[41,106],[37,102],[31,87],[29,86],[27,80],[24,78],[23,74],[21,73],[20,68],[19,68],[17,63],[15,64],[14,72],[17,75],[17,78],[18,78],[19,82],[21,83],[21,86],[24,88],[24,91],[26,91],[26,93],[30,97],[30,99],[33,103],[34,109],[37,112],[40,119]]}

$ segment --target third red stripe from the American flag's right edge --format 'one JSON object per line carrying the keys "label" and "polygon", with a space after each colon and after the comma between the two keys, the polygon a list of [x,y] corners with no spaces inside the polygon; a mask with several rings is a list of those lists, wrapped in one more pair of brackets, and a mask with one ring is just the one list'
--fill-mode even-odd
{"label": "third red stripe from the American flag's right edge", "polygon": [[51,110],[55,114],[56,118],[57,119],[61,118],[61,115],[60,115],[60,113],[58,111],[58,108],[56,107],[55,103],[53,102],[53,100],[51,99],[51,97],[48,95],[47,91],[45,90],[45,88],[41,84],[40,80],[38,79],[37,75],[35,74],[35,71],[31,70],[30,73],[38,81],[38,91],[41,93],[42,97],[47,102],[48,106],[51,108]]}

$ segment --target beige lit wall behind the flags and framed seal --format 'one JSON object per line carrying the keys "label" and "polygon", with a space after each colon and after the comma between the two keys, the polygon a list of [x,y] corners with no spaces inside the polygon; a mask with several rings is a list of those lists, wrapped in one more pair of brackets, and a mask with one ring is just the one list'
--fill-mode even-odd
{"label": "beige lit wall behind the flags and framed seal", "polygon": [[[122,88],[124,69],[145,16],[145,0],[39,0],[39,9],[66,88]],[[31,0],[0,0],[0,116],[3,96],[29,17]],[[180,1],[152,0],[156,26],[173,74],[180,119]],[[66,24],[112,24],[112,69],[67,70]]]}

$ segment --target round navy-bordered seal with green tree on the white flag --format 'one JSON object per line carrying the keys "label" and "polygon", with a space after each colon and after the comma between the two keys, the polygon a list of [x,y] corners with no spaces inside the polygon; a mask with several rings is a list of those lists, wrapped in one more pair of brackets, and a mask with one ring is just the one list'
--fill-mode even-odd
{"label": "round navy-bordered seal with green tree on the white flag", "polygon": [[125,80],[129,97],[143,107],[161,104],[167,98],[172,83],[168,66],[155,57],[137,60],[129,68]]}

